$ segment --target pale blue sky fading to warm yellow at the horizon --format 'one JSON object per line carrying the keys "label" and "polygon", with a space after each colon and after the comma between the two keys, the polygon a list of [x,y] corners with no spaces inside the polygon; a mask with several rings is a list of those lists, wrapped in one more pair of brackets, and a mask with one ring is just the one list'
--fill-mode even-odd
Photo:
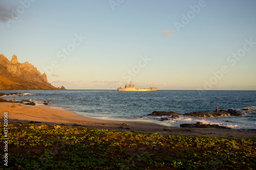
{"label": "pale blue sky fading to warm yellow at the horizon", "polygon": [[256,90],[256,1],[0,0],[0,54],[67,89]]}

